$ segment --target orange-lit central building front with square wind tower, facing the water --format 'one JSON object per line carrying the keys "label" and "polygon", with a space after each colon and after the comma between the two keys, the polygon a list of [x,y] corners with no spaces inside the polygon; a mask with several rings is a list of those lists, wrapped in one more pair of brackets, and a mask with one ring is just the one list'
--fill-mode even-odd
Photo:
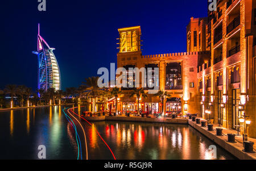
{"label": "orange-lit central building front with square wind tower, facing the water", "polygon": [[[197,59],[201,56],[210,56],[209,52],[184,52],[184,53],[168,53],[160,55],[143,56],[141,52],[141,27],[119,28],[119,53],[117,54],[117,67],[125,68],[159,68],[158,82],[160,90],[167,91],[171,95],[162,104],[159,97],[154,94],[147,94],[147,98],[142,98],[139,103],[139,109],[148,111],[151,114],[162,112],[199,112],[197,106]],[[129,34],[127,34],[129,32]],[[123,40],[123,35],[133,33],[134,44],[131,46],[131,39]],[[136,39],[135,39],[136,38]],[[126,47],[132,47],[126,49]],[[127,73],[129,74],[129,73]],[[142,87],[142,81],[140,81]],[[122,88],[118,109],[121,111],[137,110],[137,99],[130,97],[133,88]],[[149,87],[144,88],[146,93]],[[189,103],[188,103],[189,102]],[[187,103],[187,105],[185,105]]]}

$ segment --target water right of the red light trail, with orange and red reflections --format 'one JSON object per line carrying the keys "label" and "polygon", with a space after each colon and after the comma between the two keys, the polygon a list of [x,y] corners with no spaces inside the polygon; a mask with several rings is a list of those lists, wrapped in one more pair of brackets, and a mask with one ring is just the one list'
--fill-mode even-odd
{"label": "water right of the red light trail, with orange and red reflections", "polygon": [[[101,132],[120,160],[209,159],[206,152],[214,144],[187,125],[95,122],[93,127]],[[93,136],[92,141],[100,143],[100,139]],[[220,147],[217,151],[217,159],[234,159]],[[90,149],[90,153],[93,152],[94,149]]]}

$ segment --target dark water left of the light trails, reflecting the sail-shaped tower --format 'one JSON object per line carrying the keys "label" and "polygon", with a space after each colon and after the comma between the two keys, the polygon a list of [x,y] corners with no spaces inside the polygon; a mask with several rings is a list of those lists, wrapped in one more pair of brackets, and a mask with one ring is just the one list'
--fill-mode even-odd
{"label": "dark water left of the light trails, reflecting the sail-shaped tower", "polygon": [[68,138],[61,108],[0,111],[0,135],[5,137],[0,141],[0,160],[38,159],[39,145],[46,145],[47,159],[77,159],[77,144]]}

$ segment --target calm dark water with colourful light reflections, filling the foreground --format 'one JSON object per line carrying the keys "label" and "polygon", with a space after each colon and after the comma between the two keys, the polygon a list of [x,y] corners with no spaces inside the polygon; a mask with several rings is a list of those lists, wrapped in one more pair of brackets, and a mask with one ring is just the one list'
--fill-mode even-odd
{"label": "calm dark water with colourful light reflections, filling the foreground", "polygon": [[[62,109],[63,106],[53,106],[0,112],[0,159],[38,159],[38,146],[45,145],[47,159],[76,160],[75,130]],[[85,130],[89,159],[113,159],[97,131],[117,159],[208,159],[205,152],[209,145],[216,145],[187,125],[106,121],[90,126],[77,119]],[[73,122],[85,159],[83,134],[79,123],[75,119]],[[218,146],[217,158],[235,159]]]}

